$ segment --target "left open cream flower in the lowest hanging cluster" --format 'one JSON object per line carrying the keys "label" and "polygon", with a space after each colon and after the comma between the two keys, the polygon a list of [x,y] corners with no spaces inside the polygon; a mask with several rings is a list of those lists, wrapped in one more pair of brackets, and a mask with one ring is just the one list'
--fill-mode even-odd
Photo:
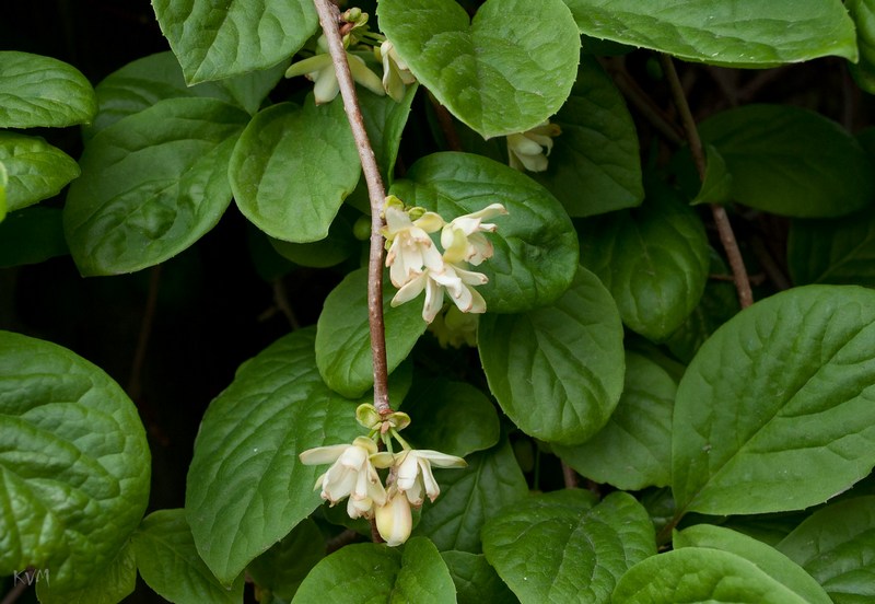
{"label": "left open cream flower in the lowest hanging cluster", "polygon": [[386,502],[386,490],[372,462],[376,454],[374,441],[359,437],[352,444],[317,446],[299,457],[304,465],[334,463],[316,479],[315,488],[322,487],[320,497],[331,506],[349,497],[347,511],[350,518],[359,518],[370,516],[374,506]]}

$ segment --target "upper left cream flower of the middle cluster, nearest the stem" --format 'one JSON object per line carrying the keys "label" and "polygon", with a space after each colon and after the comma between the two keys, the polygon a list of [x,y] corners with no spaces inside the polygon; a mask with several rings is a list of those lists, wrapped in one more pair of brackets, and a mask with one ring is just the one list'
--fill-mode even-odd
{"label": "upper left cream flower of the middle cluster, nearest the stem", "polygon": [[410,220],[400,200],[395,200],[397,198],[390,196],[385,205],[386,226],[381,232],[389,245],[386,266],[389,267],[392,284],[401,288],[421,275],[423,268],[443,269],[441,253],[429,233],[440,230],[444,221],[434,212],[424,212],[417,220]]}

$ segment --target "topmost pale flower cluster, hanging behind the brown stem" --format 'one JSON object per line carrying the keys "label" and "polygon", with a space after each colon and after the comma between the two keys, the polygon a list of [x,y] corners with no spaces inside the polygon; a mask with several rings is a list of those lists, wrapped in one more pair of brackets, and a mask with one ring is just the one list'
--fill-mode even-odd
{"label": "topmost pale flower cluster, hanging behind the brown stem", "polygon": [[[394,46],[386,36],[371,32],[368,26],[368,13],[361,9],[349,9],[340,15],[343,25],[343,48],[347,49],[347,61],[352,79],[374,94],[388,94],[394,101],[400,103],[405,89],[416,82],[416,77],[410,72]],[[378,63],[383,65],[381,79],[368,66],[365,59],[371,55]],[[316,39],[316,50],[312,57],[293,63],[285,70],[287,78],[305,76],[315,83],[313,94],[316,104],[330,103],[340,90],[337,83],[334,62],[328,54],[328,44],[325,35]]]}

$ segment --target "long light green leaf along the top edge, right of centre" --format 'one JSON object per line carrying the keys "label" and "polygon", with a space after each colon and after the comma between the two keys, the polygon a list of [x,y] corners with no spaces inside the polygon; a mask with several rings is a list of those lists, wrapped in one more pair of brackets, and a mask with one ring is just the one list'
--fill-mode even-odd
{"label": "long light green leaf along the top edge, right of centre", "polygon": [[685,60],[763,68],[837,55],[856,61],[840,0],[565,0],[582,34]]}

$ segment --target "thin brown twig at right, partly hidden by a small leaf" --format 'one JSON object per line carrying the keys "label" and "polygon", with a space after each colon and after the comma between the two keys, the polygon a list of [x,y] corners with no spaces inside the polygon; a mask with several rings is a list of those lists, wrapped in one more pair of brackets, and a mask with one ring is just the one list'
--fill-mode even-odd
{"label": "thin brown twig at right, partly hidden by a small leaf", "polygon": [[[677,77],[675,63],[668,55],[660,55],[660,60],[663,65],[663,71],[668,79],[668,85],[672,89],[672,97],[675,100],[675,106],[680,114],[684,130],[687,133],[687,142],[690,146],[692,161],[696,163],[696,170],[699,171],[699,178],[704,182],[704,150],[702,149],[702,141],[699,138],[699,131],[696,129],[696,120],[692,118],[690,106],[684,94],[684,88],[680,85],[680,80]],[[735,233],[733,233],[730,218],[726,216],[726,209],[718,204],[711,204],[711,213],[714,217],[714,223],[720,233],[720,242],[723,244],[723,249],[726,252],[726,257],[730,260],[732,274],[735,277],[738,303],[743,309],[746,309],[754,303],[754,293],[750,291],[750,280],[747,277],[747,269],[742,258],[742,252],[738,249],[738,242],[735,241]]]}

